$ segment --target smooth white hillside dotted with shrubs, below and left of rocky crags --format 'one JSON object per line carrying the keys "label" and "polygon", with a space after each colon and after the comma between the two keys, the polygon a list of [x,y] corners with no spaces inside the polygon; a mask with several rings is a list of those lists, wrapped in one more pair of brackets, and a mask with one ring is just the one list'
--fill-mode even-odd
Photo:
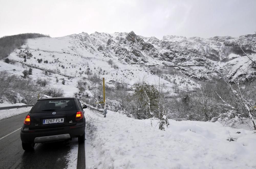
{"label": "smooth white hillside dotted with shrubs, below and left of rocky crags", "polygon": [[[47,86],[64,89],[66,96],[73,96],[74,93],[78,92],[76,88],[77,81],[83,77],[88,78],[88,71],[90,73],[95,72],[101,77],[104,77],[107,85],[111,87],[114,87],[116,83],[123,82],[127,83],[128,87],[131,87],[141,79],[153,85],[157,85],[156,83],[159,81],[165,83],[166,90],[169,92],[173,92],[172,87],[175,85],[173,83],[174,79],[181,89],[188,90],[194,87],[193,84],[195,82],[186,75],[173,75],[166,71],[160,75],[154,73],[152,67],[140,64],[127,64],[125,60],[120,59],[120,55],[115,53],[117,51],[108,46],[108,41],[109,38],[113,38],[117,43],[118,41],[122,41],[126,36],[127,33],[105,34],[96,32],[91,35],[81,33],[58,38],[44,37],[28,39],[22,48],[15,49],[8,57],[19,63],[17,62],[12,65],[0,61],[0,70],[7,70],[9,73],[22,76],[22,72],[29,69],[29,66],[26,64],[32,65],[33,74],[29,76],[30,78],[34,81],[37,81],[37,78],[46,79],[49,81]],[[102,45],[102,43],[106,44]],[[28,50],[25,49],[27,46]],[[104,51],[103,49],[105,48],[111,48],[110,52]],[[128,49],[129,47],[127,47]],[[26,55],[26,52],[31,53],[33,56],[27,58],[26,62],[24,62],[23,56]],[[41,59],[42,62],[38,63],[38,59]],[[107,62],[109,59],[113,60],[112,65]],[[157,63],[156,59],[151,59],[152,61],[148,64]],[[48,63],[45,63],[45,61]],[[159,66],[158,68],[162,69]],[[59,72],[60,74],[52,73],[45,75],[43,70]],[[64,75],[70,76],[71,78]],[[56,79],[59,79],[59,82],[56,82]],[[62,85],[62,80],[60,79],[65,79],[65,85]],[[90,94],[89,91],[87,92]]]}

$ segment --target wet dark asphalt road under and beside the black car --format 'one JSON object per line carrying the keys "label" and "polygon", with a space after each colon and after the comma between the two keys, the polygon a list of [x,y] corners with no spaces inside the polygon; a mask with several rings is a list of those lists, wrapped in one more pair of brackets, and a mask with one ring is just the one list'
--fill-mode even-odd
{"label": "wet dark asphalt road under and beside the black car", "polygon": [[[27,114],[28,113],[0,120],[0,169],[66,168],[68,161],[65,156],[71,149],[71,143],[69,143],[69,141],[36,144],[35,150],[32,152],[25,152],[22,149],[20,128]],[[79,144],[78,149],[81,149],[81,146],[83,146],[84,150],[84,144]],[[82,159],[79,160],[81,161]],[[83,165],[84,166],[77,167],[85,168],[85,157]]]}

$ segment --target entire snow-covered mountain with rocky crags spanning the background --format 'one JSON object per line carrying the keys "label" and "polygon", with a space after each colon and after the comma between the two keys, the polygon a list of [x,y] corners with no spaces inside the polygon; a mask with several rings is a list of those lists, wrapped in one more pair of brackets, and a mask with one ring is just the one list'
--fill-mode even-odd
{"label": "entire snow-covered mountain with rocky crags spanning the background", "polygon": [[[256,34],[235,39],[252,59],[256,59],[256,51],[251,47],[256,46]],[[47,75],[45,78],[51,85],[58,85],[54,82],[55,78],[65,75],[67,84],[70,83],[74,91],[77,90],[76,80],[74,82],[72,78],[86,77],[88,71],[104,75],[110,85],[114,82],[133,85],[134,82],[146,78],[149,83],[154,84],[160,79],[169,88],[177,84],[180,88],[192,88],[193,79],[207,80],[212,75],[227,76],[230,81],[236,77],[251,81],[256,74],[255,65],[243,56],[241,49],[230,36],[207,39],[164,36],[163,40],[159,40],[136,35],[131,31],[112,34],[95,32],[90,35],[82,32],[57,38],[31,38],[8,57],[20,63],[10,65],[1,61],[0,69],[22,75],[22,71],[28,69],[22,64],[26,52],[33,55],[27,57],[26,64],[39,69],[34,73],[36,77],[44,77],[40,71],[45,69],[59,72],[58,75]],[[38,59],[42,62],[39,63]],[[113,64],[108,63],[110,59]],[[168,69],[161,65],[205,66],[178,66]],[[171,75],[170,70],[176,73]],[[71,80],[67,77],[71,77]]]}

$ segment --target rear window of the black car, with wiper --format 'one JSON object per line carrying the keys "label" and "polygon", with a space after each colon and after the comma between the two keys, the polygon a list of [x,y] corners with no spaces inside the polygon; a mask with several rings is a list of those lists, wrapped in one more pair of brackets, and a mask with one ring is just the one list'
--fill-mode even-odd
{"label": "rear window of the black car, with wiper", "polygon": [[50,99],[36,102],[31,113],[76,110],[74,99]]}

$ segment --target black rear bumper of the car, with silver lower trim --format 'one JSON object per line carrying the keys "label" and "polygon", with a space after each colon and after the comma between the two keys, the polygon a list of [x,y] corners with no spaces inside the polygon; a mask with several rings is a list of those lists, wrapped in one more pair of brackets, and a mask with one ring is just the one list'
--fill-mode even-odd
{"label": "black rear bumper of the car, with silver lower trim", "polygon": [[[44,143],[44,142],[53,142],[60,141],[69,138],[74,138],[83,135],[85,130],[85,124],[76,125],[76,126],[68,126],[60,129],[52,129],[52,130],[26,130],[26,128],[22,128],[20,132],[20,139],[22,143]],[[69,136],[64,136],[69,135]],[[58,137],[58,138],[53,138]],[[42,138],[42,139],[36,139]],[[49,138],[49,139],[48,139]]]}

